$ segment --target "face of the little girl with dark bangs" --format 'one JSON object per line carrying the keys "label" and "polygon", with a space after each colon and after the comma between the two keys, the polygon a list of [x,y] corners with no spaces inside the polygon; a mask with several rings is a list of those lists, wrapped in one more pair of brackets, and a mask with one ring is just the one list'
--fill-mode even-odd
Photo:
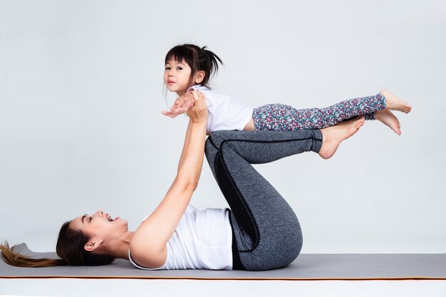
{"label": "face of the little girl with dark bangs", "polygon": [[191,73],[192,69],[184,60],[168,61],[164,70],[164,83],[167,89],[179,96],[184,95],[190,87]]}

